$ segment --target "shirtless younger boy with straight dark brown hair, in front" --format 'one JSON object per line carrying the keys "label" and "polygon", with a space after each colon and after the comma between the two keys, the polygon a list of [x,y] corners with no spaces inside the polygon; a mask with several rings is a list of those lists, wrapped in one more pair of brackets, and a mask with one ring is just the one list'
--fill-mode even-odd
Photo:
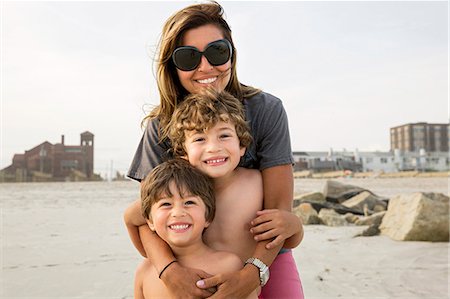
{"label": "shirtless younger boy with straight dark brown hair, in front", "polygon": [[[189,162],[173,159],[154,168],[142,183],[141,200],[142,215],[150,229],[170,246],[175,256],[172,263],[211,274],[242,268],[237,255],[214,250],[203,242],[202,233],[214,218],[214,189],[211,180]],[[134,297],[169,298],[159,279],[164,270],[157,273],[145,259],[136,270]],[[256,293],[251,298],[256,298]]]}

